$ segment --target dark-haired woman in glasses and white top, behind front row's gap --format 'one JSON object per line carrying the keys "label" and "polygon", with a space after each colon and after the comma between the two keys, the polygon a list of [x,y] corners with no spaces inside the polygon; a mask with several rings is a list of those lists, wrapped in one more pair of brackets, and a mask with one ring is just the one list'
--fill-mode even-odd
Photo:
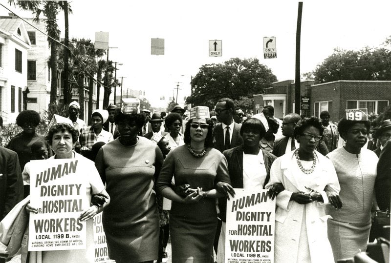
{"label": "dark-haired woman in glasses and white top, behind front row's gap", "polygon": [[164,137],[168,140],[172,150],[185,144],[183,141],[183,134],[180,133],[182,128],[182,117],[180,117],[178,113],[172,112],[167,115],[164,124],[169,130],[169,134]]}

